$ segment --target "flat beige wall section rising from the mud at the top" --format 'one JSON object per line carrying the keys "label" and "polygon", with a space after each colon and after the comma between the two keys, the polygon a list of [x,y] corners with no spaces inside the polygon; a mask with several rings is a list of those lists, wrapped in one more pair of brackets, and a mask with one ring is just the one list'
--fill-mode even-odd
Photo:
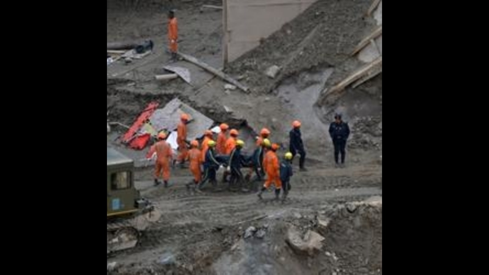
{"label": "flat beige wall section rising from the mud at the top", "polygon": [[280,29],[313,2],[315,0],[223,0],[224,63],[260,45],[261,39]]}

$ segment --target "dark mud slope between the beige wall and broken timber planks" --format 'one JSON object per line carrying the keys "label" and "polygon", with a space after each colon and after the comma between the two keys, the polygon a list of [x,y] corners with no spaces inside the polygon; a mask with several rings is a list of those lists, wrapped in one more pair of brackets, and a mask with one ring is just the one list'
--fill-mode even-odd
{"label": "dark mud slope between the beige wall and broken timber planks", "polygon": [[[374,28],[374,20],[363,18],[370,4],[370,0],[319,0],[226,70],[244,75],[243,81],[255,92],[267,93],[285,76],[319,64],[334,67]],[[283,68],[275,79],[263,73],[272,65]]]}

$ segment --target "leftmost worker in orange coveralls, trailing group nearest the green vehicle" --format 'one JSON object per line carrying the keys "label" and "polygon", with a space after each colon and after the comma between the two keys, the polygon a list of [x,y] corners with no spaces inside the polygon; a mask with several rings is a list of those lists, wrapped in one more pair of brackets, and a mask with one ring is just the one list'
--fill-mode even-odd
{"label": "leftmost worker in orange coveralls, trailing group nearest the green vehicle", "polygon": [[161,132],[158,134],[158,142],[156,142],[156,167],[155,167],[155,185],[159,185],[158,178],[163,172],[163,181],[165,187],[168,187],[168,181],[170,180],[170,161],[172,160],[172,148],[170,144],[166,142],[166,134]]}

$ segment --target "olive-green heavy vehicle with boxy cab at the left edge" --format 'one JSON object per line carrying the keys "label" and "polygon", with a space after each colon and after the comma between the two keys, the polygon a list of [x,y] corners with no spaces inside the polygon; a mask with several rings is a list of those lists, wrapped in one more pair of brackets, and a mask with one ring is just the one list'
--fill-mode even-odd
{"label": "olive-green heavy vehicle with boxy cab at the left edge", "polygon": [[134,187],[134,161],[107,147],[107,253],[134,247],[159,217]]}

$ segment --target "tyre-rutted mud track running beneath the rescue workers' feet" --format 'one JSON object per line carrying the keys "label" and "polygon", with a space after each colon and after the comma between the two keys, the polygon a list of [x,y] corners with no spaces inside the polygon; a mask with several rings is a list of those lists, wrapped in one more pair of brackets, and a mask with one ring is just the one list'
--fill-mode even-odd
{"label": "tyre-rutted mud track running beneath the rescue workers' feet", "polygon": [[[209,238],[226,242],[227,237],[220,230],[234,228],[235,232],[228,234],[232,236],[239,231],[236,230],[238,223],[278,210],[315,209],[325,204],[381,195],[381,177],[381,166],[297,172],[284,203],[272,200],[273,192],[265,192],[261,201],[256,193],[205,191],[192,195],[184,185],[189,177],[175,177],[175,185],[171,189],[150,187],[145,190],[161,211],[161,219],[143,232],[135,248],[123,252],[123,255],[183,248]],[[223,187],[222,183],[218,184]]]}

